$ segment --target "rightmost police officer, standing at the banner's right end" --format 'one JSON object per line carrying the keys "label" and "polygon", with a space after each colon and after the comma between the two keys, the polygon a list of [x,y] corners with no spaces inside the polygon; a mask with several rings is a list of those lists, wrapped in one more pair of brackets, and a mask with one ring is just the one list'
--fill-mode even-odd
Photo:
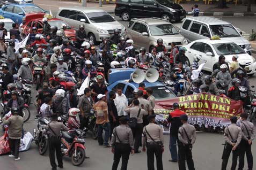
{"label": "rightmost police officer, standing at the banner's right end", "polygon": [[247,120],[248,114],[240,114],[241,122],[239,124],[242,129],[242,140],[240,143],[240,155],[239,155],[239,165],[238,170],[244,169],[244,153],[246,153],[248,170],[252,170],[253,157],[252,157],[252,141],[254,139],[254,125],[252,122]]}

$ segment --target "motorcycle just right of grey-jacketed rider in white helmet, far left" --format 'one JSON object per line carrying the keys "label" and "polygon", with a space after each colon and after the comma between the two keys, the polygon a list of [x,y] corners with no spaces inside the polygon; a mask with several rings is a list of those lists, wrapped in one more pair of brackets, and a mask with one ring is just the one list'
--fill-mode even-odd
{"label": "motorcycle just right of grey-jacketed rider in white helmet, far left", "polygon": [[38,90],[40,87],[40,84],[42,84],[44,75],[45,75],[45,70],[43,69],[45,67],[45,63],[38,61],[34,63],[34,69],[33,69],[33,76],[34,76],[34,81],[36,82],[35,89]]}

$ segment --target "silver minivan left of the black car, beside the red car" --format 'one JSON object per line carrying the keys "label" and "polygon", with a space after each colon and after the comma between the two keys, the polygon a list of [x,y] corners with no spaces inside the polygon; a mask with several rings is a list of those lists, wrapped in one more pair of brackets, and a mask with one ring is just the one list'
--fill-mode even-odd
{"label": "silver minivan left of the black car, beside the red car", "polygon": [[125,33],[125,27],[106,11],[81,6],[60,7],[56,18],[66,21],[77,30],[79,25],[85,26],[88,38],[94,43],[101,41],[100,37],[111,37],[118,28],[120,35]]}

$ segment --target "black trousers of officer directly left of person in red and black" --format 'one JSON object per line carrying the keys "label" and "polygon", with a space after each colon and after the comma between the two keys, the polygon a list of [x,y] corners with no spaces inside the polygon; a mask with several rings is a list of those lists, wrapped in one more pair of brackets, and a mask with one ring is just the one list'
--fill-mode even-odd
{"label": "black trousers of officer directly left of person in red and black", "polygon": [[147,145],[148,170],[154,170],[154,154],[157,161],[157,170],[163,170],[162,146],[158,144]]}

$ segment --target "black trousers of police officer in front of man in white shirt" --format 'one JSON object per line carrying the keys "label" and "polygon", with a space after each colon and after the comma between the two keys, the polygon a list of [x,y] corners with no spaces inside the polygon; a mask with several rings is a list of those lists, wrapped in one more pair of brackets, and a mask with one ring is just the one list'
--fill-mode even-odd
{"label": "black trousers of police officer in front of man in white shirt", "polygon": [[118,164],[122,157],[122,166],[121,170],[127,169],[127,164],[130,155],[130,145],[129,144],[116,144],[115,145],[115,152],[114,152],[114,163],[112,165],[112,170],[118,169]]}

